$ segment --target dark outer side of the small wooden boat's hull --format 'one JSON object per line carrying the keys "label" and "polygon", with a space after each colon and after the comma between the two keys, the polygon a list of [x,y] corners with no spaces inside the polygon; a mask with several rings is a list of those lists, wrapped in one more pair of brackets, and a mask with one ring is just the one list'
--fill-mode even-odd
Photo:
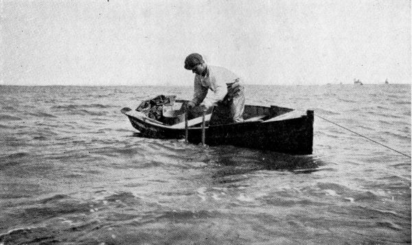
{"label": "dark outer side of the small wooden boat's hull", "polygon": [[[128,115],[131,124],[146,137],[183,139],[185,130],[163,127]],[[250,121],[209,126],[205,129],[207,145],[235,145],[288,154],[312,154],[313,111],[301,117],[280,121]],[[201,128],[188,129],[188,141],[201,143]]]}

